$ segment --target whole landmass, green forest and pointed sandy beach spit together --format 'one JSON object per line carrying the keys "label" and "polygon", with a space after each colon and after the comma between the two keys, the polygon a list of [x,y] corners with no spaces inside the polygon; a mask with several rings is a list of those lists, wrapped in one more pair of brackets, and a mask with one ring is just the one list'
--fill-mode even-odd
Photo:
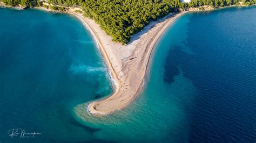
{"label": "whole landmass, green forest and pointed sandy beach spit together", "polygon": [[[2,1],[2,2],[1,2]],[[2,6],[36,7],[76,16],[95,38],[109,68],[112,95],[84,103],[92,115],[109,115],[124,109],[142,90],[154,45],[186,11],[212,10],[250,1],[56,1],[0,0]],[[8,7],[8,6],[7,6]],[[179,12],[178,12],[179,11]]]}

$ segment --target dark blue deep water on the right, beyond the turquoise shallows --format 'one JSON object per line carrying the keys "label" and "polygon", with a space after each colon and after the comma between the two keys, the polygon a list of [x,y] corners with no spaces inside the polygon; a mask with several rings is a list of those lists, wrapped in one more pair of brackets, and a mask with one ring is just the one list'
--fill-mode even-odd
{"label": "dark blue deep water on the right, beyond the turquoise shallows", "polygon": [[[185,45],[174,45],[166,83],[183,71],[198,89],[190,114],[192,142],[256,141],[256,8],[194,13]],[[174,72],[173,72],[174,71]]]}

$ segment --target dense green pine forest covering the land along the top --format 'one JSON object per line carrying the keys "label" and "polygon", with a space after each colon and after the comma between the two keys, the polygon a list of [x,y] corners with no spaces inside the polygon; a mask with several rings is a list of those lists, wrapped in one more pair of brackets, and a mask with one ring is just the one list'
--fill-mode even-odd
{"label": "dense green pine forest covering the land along the top", "polygon": [[[0,0],[8,5],[28,8],[37,6],[39,0]],[[156,20],[177,9],[186,9],[203,5],[222,7],[242,2],[245,5],[256,4],[256,0],[48,0],[53,4],[49,8],[65,11],[66,6],[82,6],[84,15],[98,23],[112,36],[113,41],[126,44],[134,33],[142,30],[151,20]],[[65,7],[64,7],[65,6]]]}

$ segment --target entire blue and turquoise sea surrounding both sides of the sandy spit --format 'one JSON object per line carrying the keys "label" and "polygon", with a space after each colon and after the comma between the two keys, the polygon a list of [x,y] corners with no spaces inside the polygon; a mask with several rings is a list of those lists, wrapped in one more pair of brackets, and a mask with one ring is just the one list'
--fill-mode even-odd
{"label": "entire blue and turquoise sea surrounding both sides of the sandy spit", "polygon": [[[256,6],[187,13],[156,45],[145,90],[87,116],[111,94],[95,42],[72,16],[0,9],[0,142],[255,142]],[[42,134],[9,137],[22,128]]]}

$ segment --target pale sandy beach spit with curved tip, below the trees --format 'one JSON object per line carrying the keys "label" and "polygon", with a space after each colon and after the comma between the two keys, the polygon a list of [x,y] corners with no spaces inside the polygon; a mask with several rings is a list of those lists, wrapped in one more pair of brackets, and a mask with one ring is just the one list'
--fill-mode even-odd
{"label": "pale sandy beach spit with curved tip, below the trees", "polygon": [[[150,58],[157,41],[167,28],[186,12],[187,11],[175,14],[170,13],[164,18],[151,22],[149,25],[144,27],[142,31],[134,34],[131,42],[127,45],[121,45],[117,42],[113,42],[112,38],[105,33],[102,35],[102,32],[104,31],[101,30],[93,20],[83,17],[83,15],[78,13],[68,12],[77,17],[96,40],[100,53],[110,70],[109,75],[111,76],[112,87],[114,88],[112,95],[85,103],[87,104],[86,109],[89,113],[97,116],[109,115],[114,111],[126,108],[126,106],[133,101],[144,87],[145,74],[150,66]],[[111,45],[111,47],[109,45]],[[111,48],[112,50],[107,51],[107,48]],[[125,48],[126,54],[120,55],[121,52],[118,50],[113,52],[114,50],[121,48]],[[112,57],[110,57],[111,55]],[[122,59],[121,62],[111,61],[113,58],[116,60],[118,58]],[[142,66],[140,64],[142,64]],[[119,65],[120,67],[118,68]],[[113,81],[117,82],[117,84],[114,84]],[[130,90],[126,90],[129,88]]]}

